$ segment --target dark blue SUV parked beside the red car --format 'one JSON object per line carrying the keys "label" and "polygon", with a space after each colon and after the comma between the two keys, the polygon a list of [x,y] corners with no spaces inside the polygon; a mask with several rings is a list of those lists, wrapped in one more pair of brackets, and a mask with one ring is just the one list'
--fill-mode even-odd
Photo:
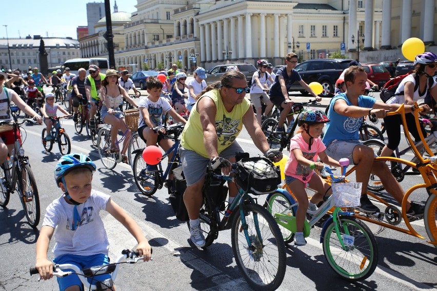
{"label": "dark blue SUV parked beside the red car", "polygon": [[[320,94],[321,97],[332,97],[334,96],[335,82],[342,72],[349,68],[351,61],[352,59],[337,58],[309,59],[297,65],[296,71],[299,72],[306,84],[311,82],[322,84],[323,92]],[[308,93],[299,82],[294,82],[290,91],[300,91],[302,94]]]}

